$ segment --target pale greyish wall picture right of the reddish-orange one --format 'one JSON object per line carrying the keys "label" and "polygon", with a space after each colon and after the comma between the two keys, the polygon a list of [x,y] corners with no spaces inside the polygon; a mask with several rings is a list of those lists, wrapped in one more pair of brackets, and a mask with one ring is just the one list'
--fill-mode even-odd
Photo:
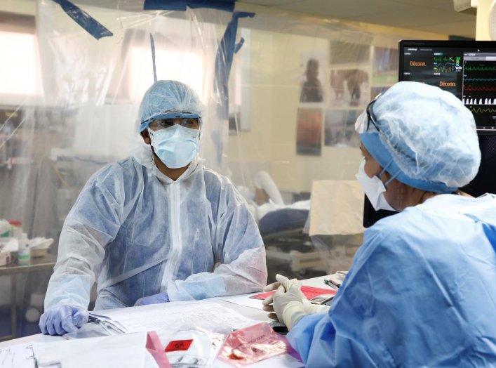
{"label": "pale greyish wall picture right of the reddish-orange one", "polygon": [[324,145],[335,147],[358,147],[355,121],[362,110],[326,110]]}

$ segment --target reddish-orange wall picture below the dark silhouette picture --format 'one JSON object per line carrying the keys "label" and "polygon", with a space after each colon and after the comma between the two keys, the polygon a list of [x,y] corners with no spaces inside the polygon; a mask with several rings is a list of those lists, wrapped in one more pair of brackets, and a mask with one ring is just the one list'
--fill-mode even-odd
{"label": "reddish-orange wall picture below the dark silhouette picture", "polygon": [[322,110],[299,108],[296,122],[297,155],[320,156],[322,153]]}

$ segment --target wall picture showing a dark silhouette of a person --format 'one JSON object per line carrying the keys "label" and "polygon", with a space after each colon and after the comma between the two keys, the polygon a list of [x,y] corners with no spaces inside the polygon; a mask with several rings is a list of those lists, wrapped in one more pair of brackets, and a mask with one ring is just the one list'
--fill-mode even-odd
{"label": "wall picture showing a dark silhouette of a person", "polygon": [[303,54],[300,70],[300,103],[322,103],[325,98],[326,55]]}

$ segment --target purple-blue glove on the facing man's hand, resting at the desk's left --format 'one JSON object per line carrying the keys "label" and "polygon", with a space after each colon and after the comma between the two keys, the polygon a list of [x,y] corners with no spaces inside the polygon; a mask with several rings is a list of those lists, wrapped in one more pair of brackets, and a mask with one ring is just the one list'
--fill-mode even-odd
{"label": "purple-blue glove on the facing man's hand, resting at the desk's left", "polygon": [[88,322],[88,310],[70,305],[46,310],[39,318],[39,329],[43,334],[63,335],[74,332]]}

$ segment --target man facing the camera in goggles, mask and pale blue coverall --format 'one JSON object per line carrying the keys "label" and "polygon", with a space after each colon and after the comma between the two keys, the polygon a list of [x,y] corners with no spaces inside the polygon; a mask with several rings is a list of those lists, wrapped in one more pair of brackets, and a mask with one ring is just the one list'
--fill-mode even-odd
{"label": "man facing the camera in goggles, mask and pale blue coverall", "polygon": [[243,294],[267,283],[246,202],[197,156],[201,112],[199,97],[178,81],[156,81],[145,93],[146,144],[95,173],[65,220],[43,334],[86,323],[94,282],[95,310]]}

